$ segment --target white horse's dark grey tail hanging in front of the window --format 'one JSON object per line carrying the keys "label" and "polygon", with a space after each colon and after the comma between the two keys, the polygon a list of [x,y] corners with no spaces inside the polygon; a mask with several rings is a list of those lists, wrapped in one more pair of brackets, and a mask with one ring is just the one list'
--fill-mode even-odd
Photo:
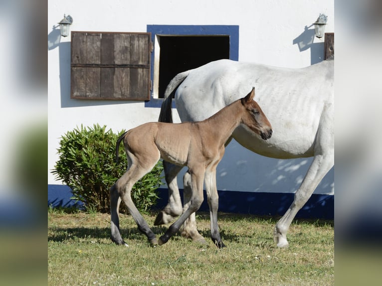
{"label": "white horse's dark grey tail hanging in front of the window", "polygon": [[173,122],[173,114],[171,110],[171,105],[173,101],[173,93],[177,87],[187,78],[191,70],[177,74],[168,84],[164,100],[161,106],[161,113],[159,114],[159,122]]}

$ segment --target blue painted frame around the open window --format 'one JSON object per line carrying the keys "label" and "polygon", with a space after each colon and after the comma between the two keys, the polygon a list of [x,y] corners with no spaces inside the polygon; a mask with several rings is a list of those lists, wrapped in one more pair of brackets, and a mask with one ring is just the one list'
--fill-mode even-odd
{"label": "blue painted frame around the open window", "polygon": [[[238,25],[147,25],[147,32],[151,33],[154,44],[156,35],[228,35],[229,59],[239,60],[239,26]],[[151,53],[151,81],[154,86],[154,55]],[[150,92],[150,101],[145,101],[145,107],[161,107],[162,98],[153,98]],[[173,108],[174,102],[173,102]]]}

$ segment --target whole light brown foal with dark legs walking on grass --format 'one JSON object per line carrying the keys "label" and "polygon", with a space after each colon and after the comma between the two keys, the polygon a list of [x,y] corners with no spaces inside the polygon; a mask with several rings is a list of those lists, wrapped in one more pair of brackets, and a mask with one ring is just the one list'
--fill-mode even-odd
{"label": "whole light brown foal with dark legs walking on grass", "polygon": [[[110,189],[111,239],[118,245],[127,245],[119,231],[119,205],[121,199],[129,209],[152,245],[162,245],[176,234],[182,224],[197,211],[203,201],[203,180],[210,210],[211,239],[217,247],[225,247],[217,226],[218,195],[216,166],[223,157],[224,144],[240,124],[263,140],[272,136],[272,127],[259,105],[253,100],[254,88],[247,96],[224,107],[210,118],[200,122],[150,122],[125,132],[117,141],[123,141],[128,169]],[[173,164],[187,166],[191,175],[189,208],[157,240],[131,199],[133,185],[151,171],[160,158]]]}

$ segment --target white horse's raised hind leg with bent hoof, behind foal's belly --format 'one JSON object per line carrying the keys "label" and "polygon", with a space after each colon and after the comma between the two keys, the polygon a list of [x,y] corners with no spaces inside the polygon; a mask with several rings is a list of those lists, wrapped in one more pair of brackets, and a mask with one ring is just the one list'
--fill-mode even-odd
{"label": "white horse's raised hind leg with bent hoof, behind foal's belly", "polygon": [[165,178],[169,187],[169,201],[167,206],[158,214],[154,225],[168,224],[183,212],[182,200],[179,194],[177,175],[183,166],[177,166],[163,161]]}

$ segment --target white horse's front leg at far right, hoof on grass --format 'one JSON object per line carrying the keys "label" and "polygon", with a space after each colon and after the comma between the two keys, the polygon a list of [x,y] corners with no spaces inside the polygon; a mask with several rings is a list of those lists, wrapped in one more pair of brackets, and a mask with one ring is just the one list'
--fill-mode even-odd
{"label": "white horse's front leg at far right, hoof on grass", "polygon": [[278,247],[288,247],[286,234],[292,220],[311,197],[322,178],[334,165],[334,131],[333,128],[330,128],[333,126],[331,124],[333,114],[333,106],[325,107],[314,146],[316,155],[304,180],[295,193],[294,201],[275,226],[273,239]]}

